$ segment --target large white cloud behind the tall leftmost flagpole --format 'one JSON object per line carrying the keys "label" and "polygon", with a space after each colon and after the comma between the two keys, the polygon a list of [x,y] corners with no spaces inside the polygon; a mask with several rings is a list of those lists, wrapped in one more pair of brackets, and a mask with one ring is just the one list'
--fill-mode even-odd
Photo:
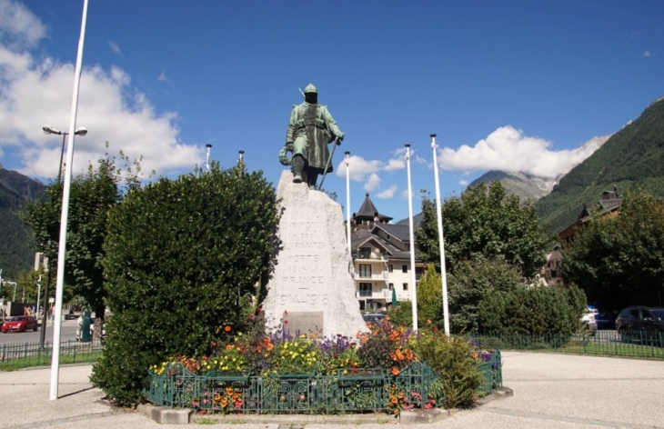
{"label": "large white cloud behind the tall leftmost flagpole", "polygon": [[[45,37],[44,28],[24,6],[0,1],[0,163],[11,151],[20,162],[12,169],[40,178],[57,175],[62,144],[60,136],[44,135],[41,128],[68,131],[74,82],[74,65],[27,50]],[[132,159],[143,156],[144,171],[191,171],[205,157],[203,145],[179,141],[177,114],[157,113],[130,82],[118,67],[83,69],[76,126],[88,134],[75,138],[74,171],[103,156],[106,141],[111,155],[122,150]]]}

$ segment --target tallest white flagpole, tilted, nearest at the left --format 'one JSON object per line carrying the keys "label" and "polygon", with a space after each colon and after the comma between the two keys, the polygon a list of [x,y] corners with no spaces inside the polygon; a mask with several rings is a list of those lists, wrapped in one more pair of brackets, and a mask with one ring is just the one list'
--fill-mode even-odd
{"label": "tallest white flagpole, tilted, nearest at the left", "polygon": [[[83,18],[81,35],[78,38],[78,54],[74,73],[74,95],[72,111],[69,118],[69,140],[67,142],[67,160],[65,168],[65,185],[62,192],[62,214],[60,216],[60,242],[57,249],[57,280],[55,283],[55,320],[53,325],[53,354],[51,357],[51,401],[57,399],[58,379],[60,376],[60,329],[62,328],[62,295],[65,287],[65,255],[67,218],[69,217],[69,189],[72,184],[72,165],[74,164],[74,137],[76,135],[76,112],[78,110],[78,89],[81,83],[81,67],[83,63],[83,45],[86,39],[87,1],[83,0]],[[44,329],[44,327],[42,328]]]}

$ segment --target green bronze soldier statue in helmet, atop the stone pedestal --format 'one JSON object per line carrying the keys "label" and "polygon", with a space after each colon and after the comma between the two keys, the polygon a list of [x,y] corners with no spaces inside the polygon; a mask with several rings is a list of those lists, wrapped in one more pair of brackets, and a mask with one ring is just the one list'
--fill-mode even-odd
{"label": "green bronze soldier statue in helmet, atop the stone pedestal", "polygon": [[[316,86],[307,85],[305,101],[294,105],[286,132],[286,145],[279,153],[283,165],[291,165],[293,183],[307,183],[316,187],[318,175],[332,172],[327,145],[336,142],[341,145],[344,133],[341,132],[327,105],[318,104]],[[287,152],[293,157],[287,158]],[[326,171],[327,167],[327,171]]]}

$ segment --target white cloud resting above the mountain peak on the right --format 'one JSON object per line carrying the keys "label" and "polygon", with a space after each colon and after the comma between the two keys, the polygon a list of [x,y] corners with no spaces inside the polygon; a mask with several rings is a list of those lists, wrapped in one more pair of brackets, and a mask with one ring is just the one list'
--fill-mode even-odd
{"label": "white cloud resting above the mountain peak on the right", "polygon": [[507,125],[472,147],[440,149],[438,164],[444,170],[518,171],[556,178],[583,162],[608,139],[609,135],[593,137],[578,149],[553,151],[548,140],[523,135],[522,131]]}

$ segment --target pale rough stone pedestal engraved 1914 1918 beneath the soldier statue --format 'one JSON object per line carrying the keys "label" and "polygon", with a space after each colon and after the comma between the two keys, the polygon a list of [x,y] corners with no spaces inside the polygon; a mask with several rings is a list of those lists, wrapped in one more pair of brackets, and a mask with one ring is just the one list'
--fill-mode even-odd
{"label": "pale rough stone pedestal engraved 1914 1918 beneath the soldier statue", "polygon": [[281,175],[277,200],[281,250],[263,304],[267,328],[283,323],[290,334],[299,330],[326,337],[367,332],[355,297],[341,205],[306,184],[294,184],[289,171]]}

